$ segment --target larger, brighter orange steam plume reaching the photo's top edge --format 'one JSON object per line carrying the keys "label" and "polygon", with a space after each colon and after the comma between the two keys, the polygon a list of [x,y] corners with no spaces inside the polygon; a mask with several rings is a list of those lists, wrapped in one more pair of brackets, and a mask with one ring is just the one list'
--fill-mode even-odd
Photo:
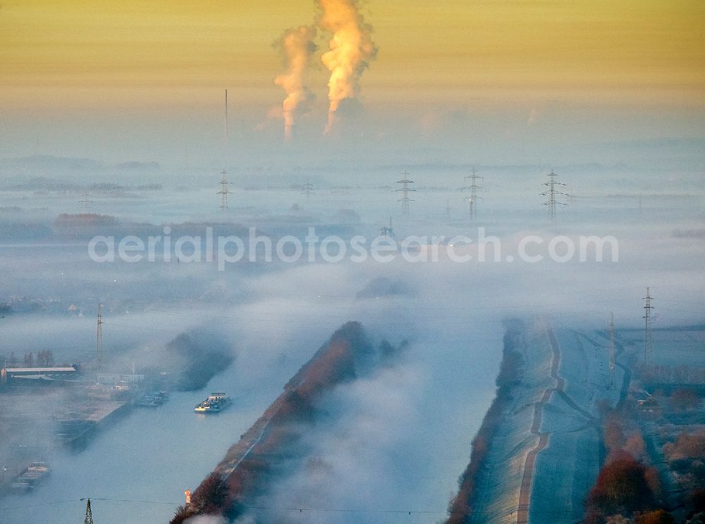
{"label": "larger, brighter orange steam plume reaching the photo's top edge", "polygon": [[322,13],[321,29],[333,33],[330,51],[321,61],[331,71],[328,82],[330,100],[326,133],[333,126],[338,105],[346,98],[355,98],[360,90],[360,75],[374,59],[376,47],[370,36],[371,28],[357,11],[357,0],[317,0]]}

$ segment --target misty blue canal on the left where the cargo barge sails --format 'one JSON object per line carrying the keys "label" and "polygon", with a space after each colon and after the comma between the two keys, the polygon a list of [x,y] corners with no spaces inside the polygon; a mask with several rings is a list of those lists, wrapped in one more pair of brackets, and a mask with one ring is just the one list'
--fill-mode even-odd
{"label": "misty blue canal on the left where the cargo barge sails", "polygon": [[[85,450],[53,458],[51,477],[35,492],[1,499],[0,508],[15,509],[4,509],[0,522],[82,522],[80,499],[86,497],[94,498],[96,523],[168,522],[185,489],[197,487],[297,368],[284,363],[253,385],[231,365],[207,389],[173,392],[159,408],[133,408],[97,432]],[[209,391],[226,391],[234,401],[218,414],[194,413]]]}

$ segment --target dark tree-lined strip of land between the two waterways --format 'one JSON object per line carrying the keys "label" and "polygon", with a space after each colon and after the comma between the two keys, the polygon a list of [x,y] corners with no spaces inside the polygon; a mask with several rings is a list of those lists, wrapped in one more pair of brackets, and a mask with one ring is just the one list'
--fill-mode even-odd
{"label": "dark tree-lined strip of land between the two waterways", "polygon": [[389,362],[398,350],[383,342],[374,348],[359,322],[339,328],[284,386],[225,458],[180,506],[171,520],[180,524],[192,516],[219,515],[234,520],[253,508],[257,496],[306,454],[301,440],[320,415],[321,398],[336,385],[351,382],[375,365]]}

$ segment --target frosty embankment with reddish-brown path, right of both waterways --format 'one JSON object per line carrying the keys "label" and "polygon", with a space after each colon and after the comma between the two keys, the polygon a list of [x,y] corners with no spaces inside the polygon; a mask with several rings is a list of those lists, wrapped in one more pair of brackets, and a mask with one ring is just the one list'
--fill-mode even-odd
{"label": "frosty embankment with reddish-brown path, right of both waterways", "polygon": [[[448,524],[574,523],[603,458],[599,412],[620,398],[608,341],[543,319],[508,325],[497,396]],[[549,495],[550,494],[550,495]]]}

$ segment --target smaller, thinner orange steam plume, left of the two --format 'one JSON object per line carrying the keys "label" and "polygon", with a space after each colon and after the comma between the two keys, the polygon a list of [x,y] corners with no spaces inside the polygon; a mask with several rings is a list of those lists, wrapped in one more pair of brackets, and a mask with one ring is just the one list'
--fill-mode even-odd
{"label": "smaller, thinner orange steam plume, left of the two", "polygon": [[295,112],[299,109],[300,104],[313,98],[312,92],[303,85],[303,75],[311,55],[316,50],[316,44],[313,42],[315,36],[316,28],[302,25],[299,28],[284,31],[278,40],[284,56],[286,73],[277,75],[274,78],[274,83],[281,85],[286,91],[286,99],[283,102],[284,138],[286,140],[291,138]]}

